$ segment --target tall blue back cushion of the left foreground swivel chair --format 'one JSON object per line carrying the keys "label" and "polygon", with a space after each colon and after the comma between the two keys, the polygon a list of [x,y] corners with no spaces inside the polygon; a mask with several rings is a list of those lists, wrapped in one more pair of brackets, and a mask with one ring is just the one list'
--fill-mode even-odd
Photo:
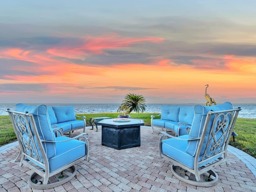
{"label": "tall blue back cushion of the left foreground swivel chair", "polygon": [[[55,141],[55,135],[52,131],[52,127],[50,125],[49,116],[47,114],[47,107],[45,105],[40,106],[28,106],[24,104],[17,104],[15,111],[18,112],[28,112],[33,114],[36,128],[39,134],[40,139],[48,140],[48,141]],[[33,129],[33,127],[31,126]],[[33,131],[33,130],[32,130]],[[34,131],[33,131],[34,134]],[[38,145],[38,144],[37,144]],[[55,152],[55,144],[50,142],[42,142],[44,150],[46,152],[47,158],[51,158],[56,154]],[[39,154],[42,158],[42,155]]]}

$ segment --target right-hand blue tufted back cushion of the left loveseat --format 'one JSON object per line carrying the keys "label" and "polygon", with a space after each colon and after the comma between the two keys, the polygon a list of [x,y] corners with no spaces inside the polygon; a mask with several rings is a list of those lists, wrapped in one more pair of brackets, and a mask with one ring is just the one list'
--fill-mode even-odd
{"label": "right-hand blue tufted back cushion of the left loveseat", "polygon": [[57,119],[57,123],[76,120],[74,106],[52,107]]}

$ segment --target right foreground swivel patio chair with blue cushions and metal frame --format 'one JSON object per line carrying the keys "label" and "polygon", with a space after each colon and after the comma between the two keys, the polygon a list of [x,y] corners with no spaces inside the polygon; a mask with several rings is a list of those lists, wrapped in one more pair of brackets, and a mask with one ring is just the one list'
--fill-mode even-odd
{"label": "right foreground swivel patio chair with blue cushions and metal frame", "polygon": [[160,132],[160,158],[170,162],[176,178],[195,186],[214,186],[218,174],[214,167],[226,162],[227,147],[238,112],[226,102],[216,106],[194,107],[194,120],[188,135],[174,137]]}

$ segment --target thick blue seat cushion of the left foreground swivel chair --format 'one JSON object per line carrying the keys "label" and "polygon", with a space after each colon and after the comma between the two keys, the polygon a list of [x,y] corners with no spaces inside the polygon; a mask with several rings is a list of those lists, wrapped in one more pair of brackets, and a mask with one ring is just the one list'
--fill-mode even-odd
{"label": "thick blue seat cushion of the left foreground swivel chair", "polygon": [[[56,141],[64,141],[70,139],[66,136],[56,137]],[[67,142],[56,143],[56,155],[49,159],[50,172],[61,168],[70,162],[85,156],[86,143],[79,140],[70,140]]]}

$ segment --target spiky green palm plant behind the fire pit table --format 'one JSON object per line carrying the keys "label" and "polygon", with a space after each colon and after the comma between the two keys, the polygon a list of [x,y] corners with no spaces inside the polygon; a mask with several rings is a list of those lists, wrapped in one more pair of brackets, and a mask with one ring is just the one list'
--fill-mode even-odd
{"label": "spiky green palm plant behind the fire pit table", "polygon": [[142,95],[127,94],[122,101],[122,104],[130,108],[130,112],[135,111],[137,113],[144,112],[146,109],[146,99]]}

